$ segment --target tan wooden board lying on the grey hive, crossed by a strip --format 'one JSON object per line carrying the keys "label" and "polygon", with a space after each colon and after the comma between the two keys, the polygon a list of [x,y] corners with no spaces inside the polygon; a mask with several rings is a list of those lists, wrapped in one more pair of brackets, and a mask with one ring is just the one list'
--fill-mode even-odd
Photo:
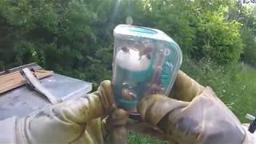
{"label": "tan wooden board lying on the grey hive, crossed by a strip", "polygon": [[[50,70],[35,70],[37,78],[46,78],[53,74]],[[26,84],[25,78],[19,71],[0,76],[0,94]]]}

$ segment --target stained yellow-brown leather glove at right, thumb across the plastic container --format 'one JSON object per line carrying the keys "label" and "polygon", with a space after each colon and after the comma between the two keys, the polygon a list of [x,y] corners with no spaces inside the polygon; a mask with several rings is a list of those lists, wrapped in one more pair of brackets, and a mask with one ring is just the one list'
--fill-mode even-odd
{"label": "stained yellow-brown leather glove at right, thumb across the plastic container", "polygon": [[[255,142],[253,134],[243,129],[210,87],[199,85],[181,71],[170,95],[172,98],[161,94],[146,96],[138,105],[142,120],[156,127],[151,130],[157,131],[158,136],[176,143]],[[149,126],[142,133],[148,130]]]}

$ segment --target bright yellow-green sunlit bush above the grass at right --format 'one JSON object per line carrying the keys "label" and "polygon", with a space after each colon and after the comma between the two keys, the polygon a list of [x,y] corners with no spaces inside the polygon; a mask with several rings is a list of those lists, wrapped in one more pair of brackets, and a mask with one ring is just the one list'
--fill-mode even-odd
{"label": "bright yellow-green sunlit bush above the grass at right", "polygon": [[240,24],[227,22],[223,14],[203,14],[196,31],[196,58],[211,58],[220,64],[237,62],[242,53]]}

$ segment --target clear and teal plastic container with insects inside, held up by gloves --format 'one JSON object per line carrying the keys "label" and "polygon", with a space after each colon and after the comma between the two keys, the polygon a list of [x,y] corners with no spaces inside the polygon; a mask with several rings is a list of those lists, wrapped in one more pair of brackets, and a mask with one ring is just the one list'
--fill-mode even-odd
{"label": "clear and teal plastic container with insects inside, held up by gloves", "polygon": [[168,95],[181,64],[178,44],[161,30],[116,26],[112,82],[117,105],[136,111],[143,96]]}

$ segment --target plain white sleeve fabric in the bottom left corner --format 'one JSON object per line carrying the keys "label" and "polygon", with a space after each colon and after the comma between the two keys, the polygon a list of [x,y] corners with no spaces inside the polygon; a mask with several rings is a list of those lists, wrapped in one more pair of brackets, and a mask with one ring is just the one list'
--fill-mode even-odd
{"label": "plain white sleeve fabric in the bottom left corner", "polygon": [[15,126],[15,117],[7,118],[0,121],[0,143],[16,143]]}

